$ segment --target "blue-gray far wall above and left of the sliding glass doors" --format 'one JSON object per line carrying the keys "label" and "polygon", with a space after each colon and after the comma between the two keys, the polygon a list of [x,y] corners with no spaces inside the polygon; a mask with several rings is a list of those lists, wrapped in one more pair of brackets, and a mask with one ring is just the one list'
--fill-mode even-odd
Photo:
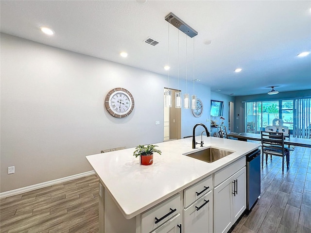
{"label": "blue-gray far wall above and left of the sliding glass doors", "polygon": [[[307,88],[311,88],[311,84],[306,86]],[[276,95],[251,95],[251,96],[238,96],[235,97],[235,131],[236,132],[245,132],[245,109],[244,109],[244,101],[260,101],[260,100],[290,100],[290,99],[298,99],[298,98],[311,98],[311,89],[301,90],[301,91],[288,91],[288,92],[280,92]],[[240,116],[238,116],[238,114]]]}

